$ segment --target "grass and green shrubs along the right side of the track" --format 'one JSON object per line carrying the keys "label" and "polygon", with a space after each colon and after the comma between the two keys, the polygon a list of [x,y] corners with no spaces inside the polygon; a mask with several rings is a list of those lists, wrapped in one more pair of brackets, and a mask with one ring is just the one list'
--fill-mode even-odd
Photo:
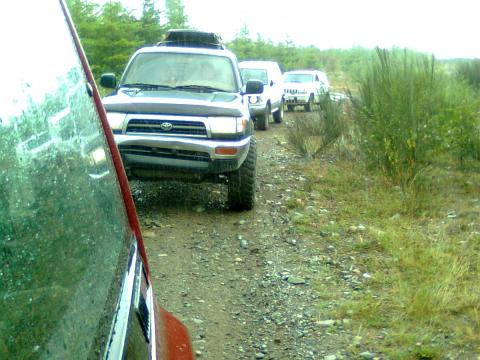
{"label": "grass and green shrubs along the right side of the track", "polygon": [[[304,214],[292,216],[295,229],[351,263],[343,283],[326,281],[329,269],[317,286],[324,317],[358,333],[352,351],[444,359],[480,350],[476,64],[449,74],[431,57],[378,49],[351,91],[353,111],[335,117],[336,140],[305,151],[322,110],[289,129],[292,149],[315,158],[290,204]],[[309,199],[322,211],[306,211]]]}

